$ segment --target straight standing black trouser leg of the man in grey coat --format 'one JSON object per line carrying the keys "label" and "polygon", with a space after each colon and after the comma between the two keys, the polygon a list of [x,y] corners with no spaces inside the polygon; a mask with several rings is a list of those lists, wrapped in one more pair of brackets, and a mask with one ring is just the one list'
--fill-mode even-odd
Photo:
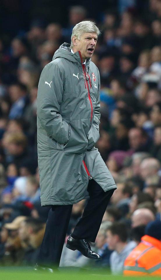
{"label": "straight standing black trouser leg of the man in grey coat", "polygon": [[38,265],[59,267],[72,205],[55,205],[49,210]]}

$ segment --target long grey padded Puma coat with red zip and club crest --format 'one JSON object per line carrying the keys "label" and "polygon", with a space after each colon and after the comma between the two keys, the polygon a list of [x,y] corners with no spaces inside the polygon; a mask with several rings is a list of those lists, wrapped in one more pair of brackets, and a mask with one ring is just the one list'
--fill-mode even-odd
{"label": "long grey padded Puma coat with red zip and club crest", "polygon": [[88,197],[89,178],[108,191],[116,185],[98,149],[100,75],[90,59],[64,43],[38,84],[38,167],[41,205],[67,205]]}

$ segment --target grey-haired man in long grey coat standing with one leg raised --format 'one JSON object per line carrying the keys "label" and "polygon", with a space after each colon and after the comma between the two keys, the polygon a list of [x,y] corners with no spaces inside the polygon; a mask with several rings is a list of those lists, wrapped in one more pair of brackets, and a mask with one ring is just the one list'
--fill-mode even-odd
{"label": "grey-haired man in long grey coat standing with one leg raised", "polygon": [[[88,196],[67,247],[100,259],[89,241],[95,242],[116,185],[94,147],[99,138],[100,76],[91,57],[99,34],[93,22],[79,22],[73,28],[71,45],[61,45],[40,76],[37,126],[41,205],[52,207],[35,269],[59,266],[72,205]],[[94,186],[88,186],[91,178],[97,182]]]}

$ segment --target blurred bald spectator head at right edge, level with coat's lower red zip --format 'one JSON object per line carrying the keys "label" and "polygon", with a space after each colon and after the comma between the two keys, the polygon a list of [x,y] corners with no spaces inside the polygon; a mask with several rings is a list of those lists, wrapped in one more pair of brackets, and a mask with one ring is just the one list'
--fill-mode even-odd
{"label": "blurred bald spectator head at right edge, level with coat's lower red zip", "polygon": [[160,170],[161,164],[158,159],[147,158],[141,162],[140,165],[140,175],[143,180],[146,178],[155,175]]}

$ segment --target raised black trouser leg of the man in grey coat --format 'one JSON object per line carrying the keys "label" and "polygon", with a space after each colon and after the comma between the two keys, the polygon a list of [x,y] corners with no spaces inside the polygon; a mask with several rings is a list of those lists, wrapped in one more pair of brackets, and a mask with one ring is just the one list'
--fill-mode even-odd
{"label": "raised black trouser leg of the man in grey coat", "polygon": [[88,186],[89,200],[84,208],[82,218],[72,233],[74,239],[86,239],[95,242],[107,204],[114,189],[104,192],[95,181],[91,180]]}

